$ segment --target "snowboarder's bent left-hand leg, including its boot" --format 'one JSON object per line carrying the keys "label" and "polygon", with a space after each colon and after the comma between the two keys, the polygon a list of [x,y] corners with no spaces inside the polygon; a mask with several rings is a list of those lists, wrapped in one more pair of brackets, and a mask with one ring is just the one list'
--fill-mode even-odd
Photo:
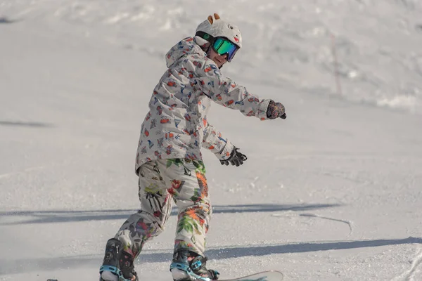
{"label": "snowboarder's bent left-hand leg, including its boot", "polygon": [[167,192],[156,162],[139,168],[141,209],[129,216],[114,238],[108,240],[100,274],[104,281],[117,281],[117,275],[137,280],[133,261],[143,244],[162,233],[172,210],[172,196]]}

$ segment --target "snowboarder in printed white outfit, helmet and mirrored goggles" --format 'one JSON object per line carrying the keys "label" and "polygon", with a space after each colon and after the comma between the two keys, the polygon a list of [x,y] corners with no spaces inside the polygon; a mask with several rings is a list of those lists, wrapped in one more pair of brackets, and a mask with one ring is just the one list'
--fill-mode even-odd
{"label": "snowboarder in printed white outfit, helmet and mirrored goggles", "polygon": [[100,280],[138,280],[134,259],[162,233],[173,203],[179,209],[173,279],[218,279],[216,270],[206,268],[204,254],[212,208],[200,150],[210,150],[225,165],[240,166],[247,157],[207,122],[207,112],[213,101],[245,116],[286,119],[281,103],[248,93],[220,72],[241,47],[238,27],[215,13],[198,25],[195,37],[167,53],[168,69],[151,96],[136,154],[141,209],[108,240]]}

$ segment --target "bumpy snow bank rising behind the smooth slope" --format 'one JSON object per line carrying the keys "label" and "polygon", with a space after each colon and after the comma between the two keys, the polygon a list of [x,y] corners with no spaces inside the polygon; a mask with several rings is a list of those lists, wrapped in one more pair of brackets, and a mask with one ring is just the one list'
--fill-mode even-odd
{"label": "bumpy snow bank rising behind the smooth slope", "polygon": [[[44,18],[79,25],[84,36],[102,32],[124,48],[162,56],[181,37],[193,35],[207,15],[217,12],[241,27],[245,42],[229,74],[353,103],[421,113],[421,1],[222,3],[3,1],[0,16],[4,21]],[[163,37],[167,45],[161,44]]]}

